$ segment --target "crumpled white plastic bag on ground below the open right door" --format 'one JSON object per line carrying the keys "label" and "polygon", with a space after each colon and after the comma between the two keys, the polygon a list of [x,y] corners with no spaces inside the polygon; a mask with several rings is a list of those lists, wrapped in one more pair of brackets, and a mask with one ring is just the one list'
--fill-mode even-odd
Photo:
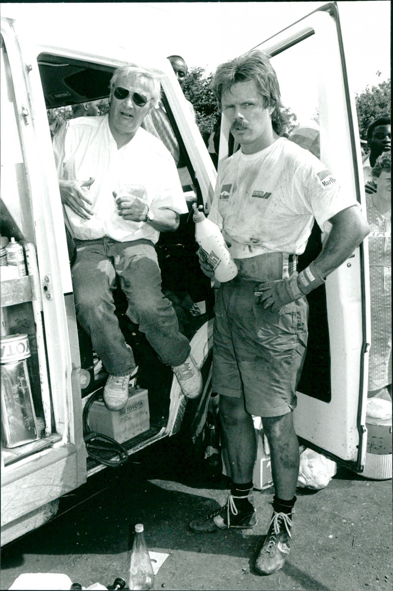
{"label": "crumpled white plastic bag on ground below the open right door", "polygon": [[336,462],[306,447],[300,454],[297,486],[319,491],[329,484],[336,472]]}

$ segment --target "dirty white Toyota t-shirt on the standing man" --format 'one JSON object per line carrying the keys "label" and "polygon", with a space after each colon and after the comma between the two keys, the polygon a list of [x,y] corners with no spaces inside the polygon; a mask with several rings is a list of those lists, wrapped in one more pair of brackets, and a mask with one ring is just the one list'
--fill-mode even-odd
{"label": "dirty white Toyota t-shirt on the standing man", "polygon": [[327,220],[356,204],[318,158],[279,138],[254,154],[239,150],[220,165],[209,219],[234,258],[301,254],[314,219],[329,232]]}

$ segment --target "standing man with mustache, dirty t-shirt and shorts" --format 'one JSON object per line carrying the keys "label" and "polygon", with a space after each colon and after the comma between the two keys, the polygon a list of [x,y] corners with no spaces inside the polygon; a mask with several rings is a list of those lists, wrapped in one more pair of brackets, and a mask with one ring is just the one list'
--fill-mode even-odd
{"label": "standing man with mustache, dirty t-shirt and shorts", "polygon": [[[266,54],[254,50],[217,68],[222,114],[241,145],[219,167],[209,219],[222,230],[238,275],[220,285],[215,305],[212,387],[220,395],[223,447],[231,478],[227,504],[194,519],[196,532],[252,528],[256,439],[262,417],[275,495],[259,573],[282,568],[293,534],[299,446],[296,388],[307,345],[306,296],[369,232],[358,203],[313,154],[284,137],[280,87]],[[314,219],[329,237],[297,274]],[[200,257],[203,272],[213,269]]]}

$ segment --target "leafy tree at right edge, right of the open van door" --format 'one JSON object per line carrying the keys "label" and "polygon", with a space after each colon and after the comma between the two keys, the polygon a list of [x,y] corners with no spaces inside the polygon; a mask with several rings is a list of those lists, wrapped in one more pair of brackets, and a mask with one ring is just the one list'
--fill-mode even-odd
{"label": "leafy tree at right edge, right of the open van door", "polygon": [[[380,72],[377,72],[379,75]],[[391,109],[391,87],[390,79],[381,82],[378,86],[366,86],[360,94],[356,94],[356,112],[358,113],[358,124],[360,138],[366,139],[367,128],[374,119],[388,115]]]}

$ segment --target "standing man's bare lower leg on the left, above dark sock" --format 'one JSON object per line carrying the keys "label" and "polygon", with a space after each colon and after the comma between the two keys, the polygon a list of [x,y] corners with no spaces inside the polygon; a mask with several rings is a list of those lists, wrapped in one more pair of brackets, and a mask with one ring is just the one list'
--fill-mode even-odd
{"label": "standing man's bare lower leg on the left, above dark sock", "polygon": [[242,398],[220,395],[219,407],[225,454],[230,470],[228,476],[233,482],[251,482],[256,459],[252,416],[246,412]]}

